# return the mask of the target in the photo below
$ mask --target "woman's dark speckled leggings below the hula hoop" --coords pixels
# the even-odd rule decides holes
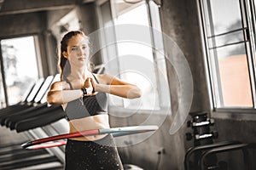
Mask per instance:
[[[123,170],[113,136],[96,141],[67,139],[66,170]]]

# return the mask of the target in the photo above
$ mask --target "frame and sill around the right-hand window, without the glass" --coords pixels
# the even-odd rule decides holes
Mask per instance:
[[[246,48],[246,54],[247,54],[247,64],[248,64],[248,71],[249,71],[249,77],[250,77],[250,85],[251,85],[251,92],[253,97],[253,107],[218,107],[216,96],[216,91],[214,90],[214,80],[216,80],[216,77],[218,77],[218,73],[214,70],[214,66],[212,65],[212,55],[210,54],[208,48],[208,40],[207,40],[207,19],[205,18],[206,14],[206,8],[204,8],[204,4],[202,2],[203,0],[197,1],[197,7],[198,7],[198,15],[199,15],[199,21],[201,26],[201,41],[202,41],[202,47],[203,47],[203,54],[205,59],[205,69],[207,73],[207,87],[208,87],[208,94],[210,96],[211,101],[211,109],[214,114],[212,116],[218,116],[222,118],[226,117],[232,117],[232,118],[242,118],[247,120],[256,120],[256,92],[255,92],[255,1],[248,1],[248,0],[238,0],[241,4],[241,22],[242,22],[242,28],[247,29],[247,31],[243,31],[244,41],[245,42],[245,48]],[[248,41],[246,37],[249,37]],[[216,59],[216,56],[214,56]],[[213,67],[213,68],[212,68]],[[215,79],[214,79],[215,77]],[[219,77],[218,77],[219,78]],[[215,87],[216,88],[216,87]],[[219,87],[218,87],[219,88]],[[219,91],[221,92],[221,91]],[[242,113],[242,114],[241,114]]]

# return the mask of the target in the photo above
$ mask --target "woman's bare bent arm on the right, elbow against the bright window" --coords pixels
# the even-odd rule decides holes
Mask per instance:
[[[117,95],[119,97],[134,99],[142,96],[142,91],[136,85],[121,81],[119,78],[109,76],[108,74],[97,75],[100,84],[93,82],[96,92],[105,92]]]

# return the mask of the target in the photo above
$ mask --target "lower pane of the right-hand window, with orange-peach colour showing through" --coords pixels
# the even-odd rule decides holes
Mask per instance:
[[[239,54],[238,51],[241,50]],[[218,67],[223,95],[220,106],[253,106],[247,55],[243,45],[233,45],[218,50]]]

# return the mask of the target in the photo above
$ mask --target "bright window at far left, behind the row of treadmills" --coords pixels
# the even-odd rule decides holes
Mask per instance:
[[[34,37],[1,41],[3,67],[0,78],[1,107],[20,102],[30,84],[38,79],[38,61],[34,41]]]

